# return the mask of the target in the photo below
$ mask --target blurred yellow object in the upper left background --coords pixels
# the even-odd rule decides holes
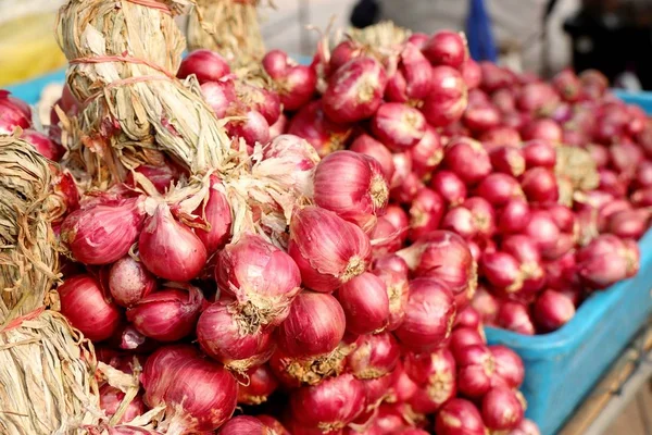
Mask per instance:
[[[66,60],[54,39],[57,13],[22,16],[0,24],[0,87],[62,67]]]

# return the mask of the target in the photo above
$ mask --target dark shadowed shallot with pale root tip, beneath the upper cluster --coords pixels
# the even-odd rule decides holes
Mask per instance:
[[[322,101],[313,101],[297,112],[290,122],[288,133],[310,142],[319,157],[341,150],[351,134],[347,125],[334,123],[324,115]]]

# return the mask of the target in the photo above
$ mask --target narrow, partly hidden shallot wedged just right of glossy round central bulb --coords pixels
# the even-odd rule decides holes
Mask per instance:
[[[398,256],[376,260],[372,270],[385,283],[389,298],[389,322],[387,331],[394,331],[403,322],[408,304],[408,264]]]

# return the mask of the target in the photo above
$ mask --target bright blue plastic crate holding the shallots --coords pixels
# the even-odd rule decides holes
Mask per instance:
[[[64,75],[64,71],[58,71],[8,89],[34,104],[46,85],[62,83]],[[652,113],[652,94],[616,95]],[[595,293],[561,330],[532,337],[487,328],[490,344],[509,346],[523,358],[526,414],[539,424],[543,435],[562,427],[652,312],[652,231],[639,241],[639,274]]]

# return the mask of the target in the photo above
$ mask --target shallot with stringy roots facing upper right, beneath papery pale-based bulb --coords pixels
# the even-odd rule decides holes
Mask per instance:
[[[209,357],[239,373],[265,363],[274,351],[272,331],[252,328],[228,299],[201,313],[197,340]]]

